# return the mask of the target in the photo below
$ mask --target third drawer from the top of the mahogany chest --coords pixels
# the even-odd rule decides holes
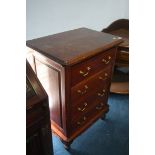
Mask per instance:
[[[97,105],[105,105],[107,103],[108,92],[103,92],[104,89],[100,89],[95,93],[91,94],[89,98],[84,99],[80,103],[72,106],[71,118],[72,121],[80,119],[80,117],[87,112],[94,109]]]

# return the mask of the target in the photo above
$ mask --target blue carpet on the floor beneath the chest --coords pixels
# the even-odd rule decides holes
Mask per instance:
[[[53,135],[54,155],[128,155],[129,96],[111,94],[106,120],[99,119],[77,137],[70,151]]]

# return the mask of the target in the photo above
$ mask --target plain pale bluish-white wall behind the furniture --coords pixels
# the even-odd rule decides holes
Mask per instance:
[[[79,27],[101,31],[129,18],[129,0],[27,0],[26,39]]]

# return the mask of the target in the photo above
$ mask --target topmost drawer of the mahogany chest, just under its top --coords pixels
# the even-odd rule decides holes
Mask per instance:
[[[74,65],[71,69],[72,86],[99,72],[103,67],[113,65],[115,55],[116,48],[112,48],[82,63]]]

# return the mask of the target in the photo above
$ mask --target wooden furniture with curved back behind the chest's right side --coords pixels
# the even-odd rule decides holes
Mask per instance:
[[[116,63],[110,92],[128,94],[129,93],[129,72],[123,73],[121,68],[129,70],[129,20],[119,19],[114,21],[102,32],[110,33],[122,37],[123,42],[118,45]]]

